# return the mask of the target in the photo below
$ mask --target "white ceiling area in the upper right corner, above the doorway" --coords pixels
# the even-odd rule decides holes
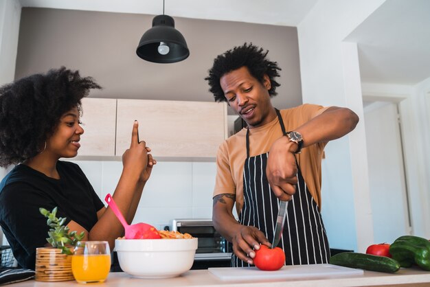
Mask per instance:
[[[387,0],[347,38],[362,82],[414,85],[430,77],[430,1]]]

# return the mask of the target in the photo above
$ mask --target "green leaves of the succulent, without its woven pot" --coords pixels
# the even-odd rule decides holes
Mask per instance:
[[[48,231],[49,238],[46,238],[47,242],[49,242],[52,246],[61,249],[61,253],[65,253],[68,255],[73,254],[70,248],[67,246],[78,246],[80,244],[80,240],[84,238],[84,231],[80,234],[76,234],[76,231],[71,231],[69,233],[69,227],[63,226],[67,218],[57,218],[57,207],[52,209],[52,212],[45,208],[39,208],[39,211],[43,216],[47,219],[47,225],[51,227]]]

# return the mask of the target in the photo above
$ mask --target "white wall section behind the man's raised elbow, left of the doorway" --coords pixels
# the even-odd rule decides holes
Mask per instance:
[[[363,119],[357,46],[343,39],[383,2],[318,1],[299,23],[303,102],[347,106]],[[326,147],[322,214],[332,248],[363,252],[373,242],[366,154],[363,121]]]

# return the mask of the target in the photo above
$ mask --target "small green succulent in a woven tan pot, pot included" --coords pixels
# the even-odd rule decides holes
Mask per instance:
[[[57,207],[52,212],[40,208],[39,211],[47,218],[50,227],[46,239],[52,247],[40,247],[36,249],[36,276],[37,281],[56,282],[73,280],[71,272],[71,255],[73,249],[79,246],[84,238],[84,231],[78,234],[64,226],[67,218],[57,218]]]

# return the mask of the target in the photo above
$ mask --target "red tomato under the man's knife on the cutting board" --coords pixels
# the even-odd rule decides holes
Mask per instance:
[[[270,249],[266,245],[260,245],[260,249],[256,250],[256,257],[254,257],[253,261],[260,270],[275,271],[284,266],[285,254],[279,247]]]

